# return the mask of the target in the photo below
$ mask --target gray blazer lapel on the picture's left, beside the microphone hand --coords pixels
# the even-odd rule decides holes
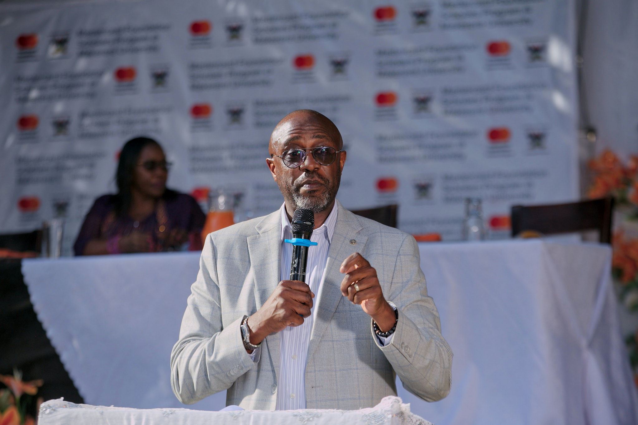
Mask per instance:
[[[259,234],[248,237],[248,255],[255,275],[255,303],[257,310],[271,296],[281,278],[281,213],[267,215],[256,229]],[[265,339],[267,351],[279,382],[279,333]],[[263,353],[262,353],[263,356]],[[263,360],[262,360],[263,361]]]

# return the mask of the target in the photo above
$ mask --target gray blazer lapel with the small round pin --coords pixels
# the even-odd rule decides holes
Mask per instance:
[[[316,301],[318,305],[315,308],[313,330],[310,335],[308,363],[311,361],[311,356],[313,356],[318,343],[328,328],[339,301],[344,298],[341,294],[343,274],[339,273],[341,263],[350,254],[362,252],[367,240],[367,236],[359,234],[362,227],[357,217],[343,208],[339,201],[337,201],[337,205],[339,208],[337,223],[334,227],[330,249],[328,250],[328,261],[326,262],[325,275],[319,291],[319,299]],[[352,243],[352,241],[355,243]]]

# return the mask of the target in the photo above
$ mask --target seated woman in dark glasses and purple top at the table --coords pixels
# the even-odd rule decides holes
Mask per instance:
[[[84,218],[76,256],[202,249],[205,216],[192,196],[167,189],[168,162],[159,143],[126,142],[117,164],[119,192],[96,199]]]

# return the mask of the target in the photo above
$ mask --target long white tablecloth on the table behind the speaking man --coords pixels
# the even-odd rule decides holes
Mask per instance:
[[[412,412],[436,424],[635,424],[609,247],[540,240],[420,245],[454,351],[452,391]],[[29,259],[24,280],[91,405],[183,407],[170,389],[198,255]],[[400,387],[400,384],[397,384]],[[218,410],[220,393],[193,408]]]

